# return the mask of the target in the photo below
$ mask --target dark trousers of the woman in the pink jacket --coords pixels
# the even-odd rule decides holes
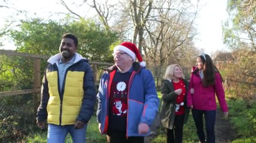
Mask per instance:
[[[207,143],[215,143],[215,133],[214,133],[214,125],[216,118],[216,110],[196,110],[192,109],[192,115],[196,125],[196,133],[199,138],[199,141],[204,143],[204,125],[203,125],[203,116],[205,118],[205,126],[207,133]]]

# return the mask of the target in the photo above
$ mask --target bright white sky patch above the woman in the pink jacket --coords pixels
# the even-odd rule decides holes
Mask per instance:
[[[201,0],[203,1],[203,0]],[[216,50],[228,50],[222,41],[222,22],[228,18],[227,0],[207,0],[196,19],[195,46],[204,49],[206,54]]]

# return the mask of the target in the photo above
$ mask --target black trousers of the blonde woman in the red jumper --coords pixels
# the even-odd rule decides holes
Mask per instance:
[[[175,115],[173,129],[167,130],[167,143],[182,143],[184,114]]]

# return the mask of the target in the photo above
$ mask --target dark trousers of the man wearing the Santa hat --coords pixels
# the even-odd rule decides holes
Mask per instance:
[[[108,130],[107,143],[144,143],[144,137],[126,137],[125,131]]]

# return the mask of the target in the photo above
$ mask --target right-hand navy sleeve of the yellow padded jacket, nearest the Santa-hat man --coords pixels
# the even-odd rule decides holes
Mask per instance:
[[[83,77],[83,101],[80,113],[76,120],[88,123],[94,112],[94,104],[96,99],[94,76],[91,67],[86,63],[85,75]]]

